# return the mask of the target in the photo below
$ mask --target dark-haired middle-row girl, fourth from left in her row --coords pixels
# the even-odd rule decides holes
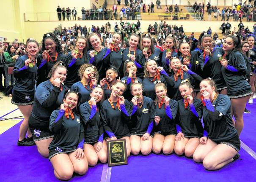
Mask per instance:
[[[142,80],[136,76],[137,67],[132,60],[127,59],[126,62],[124,62],[124,73],[125,77],[122,78],[121,81],[127,84],[127,89],[123,95],[128,101],[131,101],[133,96],[130,91],[130,86],[132,83],[142,83]]]

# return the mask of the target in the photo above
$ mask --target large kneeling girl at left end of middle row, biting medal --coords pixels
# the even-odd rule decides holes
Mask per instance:
[[[33,110],[28,123],[37,150],[44,157],[49,156],[48,147],[54,134],[49,130],[49,119],[52,111],[63,103],[64,92],[67,87],[62,83],[66,79],[66,67],[63,62],[53,65],[49,80],[36,88]]]

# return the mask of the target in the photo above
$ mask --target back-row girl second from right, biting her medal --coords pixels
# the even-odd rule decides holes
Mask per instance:
[[[211,35],[201,34],[201,46],[203,48],[203,54],[199,56],[199,64],[201,66],[202,78],[212,78],[217,86],[217,91],[220,94],[227,94],[227,86],[223,75],[221,73],[221,64],[219,58],[223,57],[224,51],[220,47],[212,48]],[[200,94],[200,93],[199,93]]]

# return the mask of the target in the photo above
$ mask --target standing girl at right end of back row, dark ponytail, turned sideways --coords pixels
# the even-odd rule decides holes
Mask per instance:
[[[240,135],[244,125],[245,105],[253,94],[246,80],[247,67],[241,53],[240,37],[236,34],[226,37],[223,50],[225,54],[220,61],[221,71],[228,87],[227,95],[231,98],[232,115],[236,119],[237,133]]]

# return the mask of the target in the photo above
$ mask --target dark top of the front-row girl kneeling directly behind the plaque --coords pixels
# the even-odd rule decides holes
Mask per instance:
[[[117,102],[113,102],[115,109],[110,105],[110,102],[105,100],[100,106],[100,115],[104,130],[108,134],[113,133],[117,138],[120,138],[126,134],[129,134],[128,121],[129,117],[125,115],[121,110],[116,108]],[[131,111],[129,102],[125,99],[125,107],[128,112]]]

